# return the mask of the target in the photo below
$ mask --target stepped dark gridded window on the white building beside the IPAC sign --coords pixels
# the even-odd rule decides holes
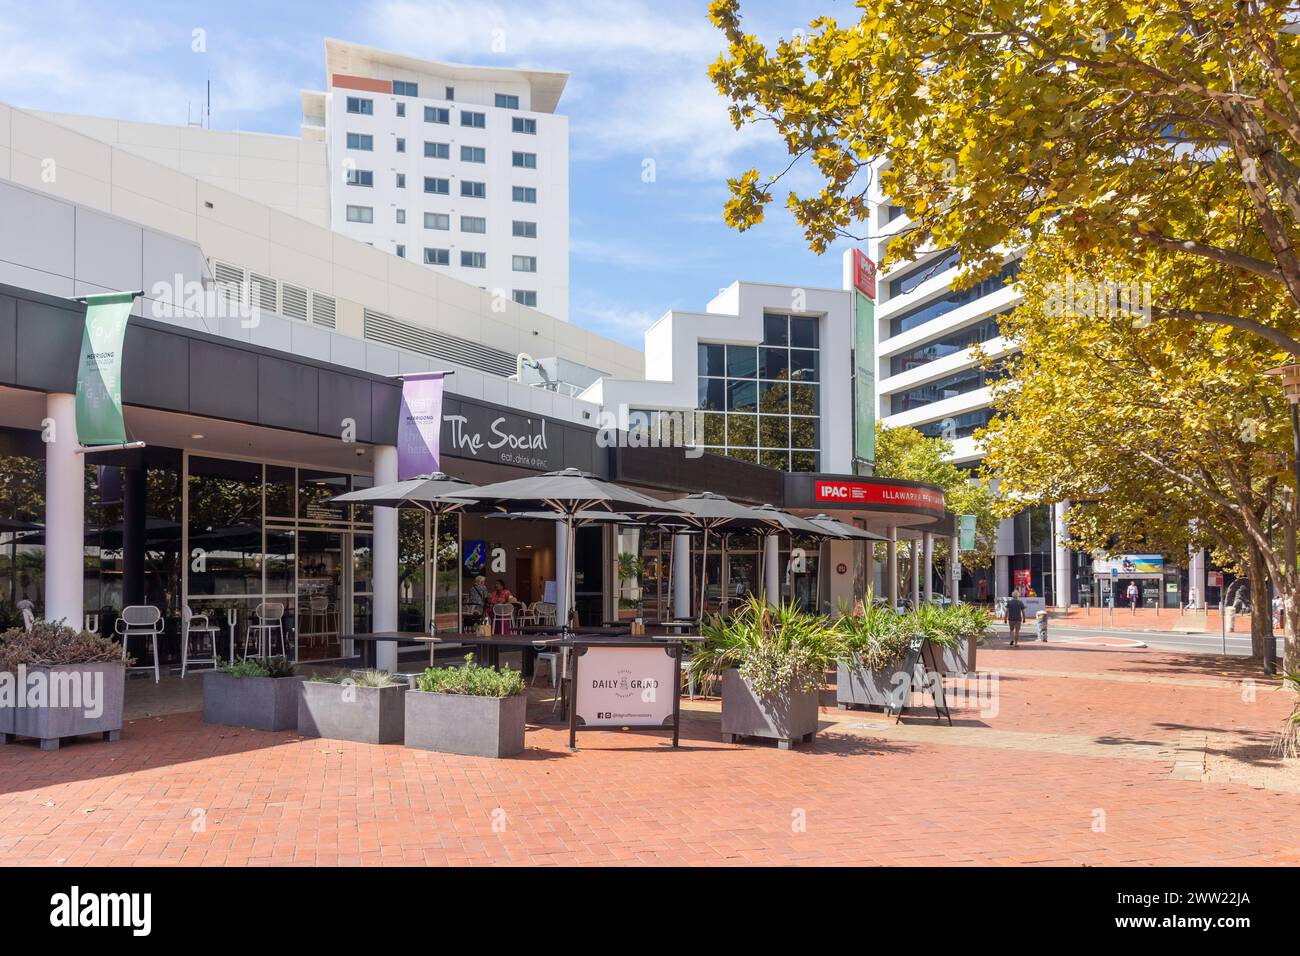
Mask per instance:
[[[766,313],[758,346],[699,343],[706,450],[783,471],[820,467],[818,320]]]

